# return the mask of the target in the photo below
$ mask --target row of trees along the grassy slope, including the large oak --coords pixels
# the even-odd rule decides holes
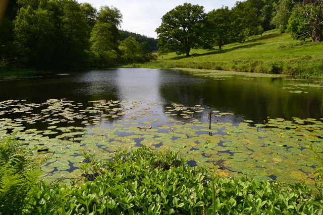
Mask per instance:
[[[202,6],[184,3],[161,18],[156,29],[158,51],[190,56],[196,48],[221,50],[275,28],[290,32],[294,39],[319,42],[323,39],[322,5],[323,0],[247,0],[206,14]]]

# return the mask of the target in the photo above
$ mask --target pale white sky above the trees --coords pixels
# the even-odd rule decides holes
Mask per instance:
[[[161,17],[179,5],[191,3],[204,7],[205,13],[228,6],[232,8],[237,0],[78,0],[90,3],[96,9],[113,6],[120,10],[123,18],[121,28],[130,32],[157,38],[154,32],[160,26]]]

